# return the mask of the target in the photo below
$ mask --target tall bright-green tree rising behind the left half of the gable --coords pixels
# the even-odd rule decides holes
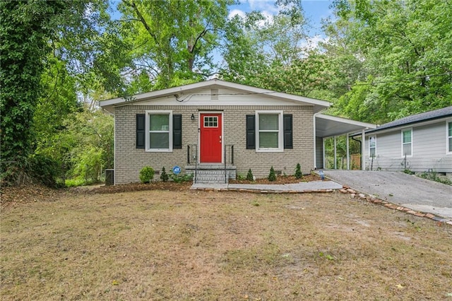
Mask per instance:
[[[167,88],[199,81],[213,65],[211,52],[218,46],[233,0],[124,0],[121,35],[132,45],[135,85],[142,90]],[[138,85],[137,85],[138,84]],[[136,92],[136,91],[133,91]]]

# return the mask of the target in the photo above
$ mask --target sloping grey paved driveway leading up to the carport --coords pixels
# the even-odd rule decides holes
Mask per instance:
[[[403,172],[324,170],[326,177],[415,211],[452,219],[452,186]]]

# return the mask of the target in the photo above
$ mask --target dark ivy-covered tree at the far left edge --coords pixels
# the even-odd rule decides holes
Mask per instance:
[[[30,153],[30,127],[40,96],[46,37],[64,1],[0,1],[1,174],[14,182]]]

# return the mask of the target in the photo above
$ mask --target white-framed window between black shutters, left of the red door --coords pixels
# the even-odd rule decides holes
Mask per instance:
[[[146,151],[172,151],[172,111],[146,111]]]

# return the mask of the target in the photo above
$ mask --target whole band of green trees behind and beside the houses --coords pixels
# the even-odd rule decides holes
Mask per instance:
[[[112,167],[112,117],[95,100],[213,74],[329,100],[331,114],[363,122],[452,105],[448,1],[335,0],[319,45],[301,0],[276,0],[271,18],[229,16],[237,2],[0,1],[2,182],[31,165],[97,179]]]

